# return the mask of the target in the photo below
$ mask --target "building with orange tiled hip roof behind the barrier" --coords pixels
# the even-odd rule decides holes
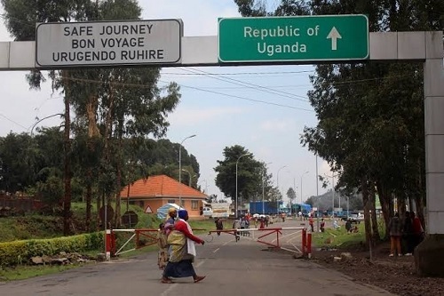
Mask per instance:
[[[199,190],[179,183],[166,175],[149,176],[125,186],[120,192],[122,203],[139,205],[145,212],[156,213],[163,204],[178,204],[188,211],[190,218],[202,218],[203,203],[209,196]]]

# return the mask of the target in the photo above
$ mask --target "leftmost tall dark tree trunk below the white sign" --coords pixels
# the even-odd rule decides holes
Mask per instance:
[[[71,140],[69,139],[71,121],[69,117],[69,81],[67,76],[70,74],[69,71],[63,71],[64,78],[64,86],[65,86],[65,201],[63,204],[63,234],[68,236],[71,225]]]

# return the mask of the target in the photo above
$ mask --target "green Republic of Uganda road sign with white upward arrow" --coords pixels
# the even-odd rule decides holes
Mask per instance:
[[[366,60],[369,20],[361,14],[218,20],[218,60]]]

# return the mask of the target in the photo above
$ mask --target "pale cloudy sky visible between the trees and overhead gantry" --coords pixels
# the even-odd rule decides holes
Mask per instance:
[[[217,36],[218,17],[240,16],[233,0],[140,0],[139,4],[145,20],[183,20],[185,36]],[[0,41],[11,40],[2,21]],[[26,74],[0,72],[0,136],[31,132],[37,118],[63,112],[62,97],[52,93],[51,84],[44,84],[41,91],[29,90]],[[177,82],[182,94],[178,108],[169,116],[166,138],[181,142],[196,134],[184,147],[196,156],[201,168],[199,184],[209,195],[223,197],[214,184],[214,167],[223,159],[223,149],[241,145],[257,160],[272,163],[268,170],[284,195],[289,187],[296,187],[299,201],[302,179],[305,200],[316,194],[315,156],[300,145],[304,126],[317,123],[306,97],[311,74],[313,66],[306,65],[164,68],[161,84]],[[61,121],[55,116],[36,126]],[[328,164],[321,159],[318,163],[319,174],[329,173]],[[325,191],[319,184],[319,193]]]

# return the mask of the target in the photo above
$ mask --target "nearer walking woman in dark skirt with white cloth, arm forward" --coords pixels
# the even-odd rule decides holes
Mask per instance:
[[[174,225],[174,229],[168,236],[168,244],[170,244],[170,259],[163,270],[162,283],[171,284],[171,277],[188,277],[192,276],[194,283],[198,283],[205,276],[197,276],[194,271],[193,262],[196,256],[194,243],[205,244],[205,242],[194,236],[191,226],[188,224],[188,212],[186,210],[178,211],[178,220]]]

